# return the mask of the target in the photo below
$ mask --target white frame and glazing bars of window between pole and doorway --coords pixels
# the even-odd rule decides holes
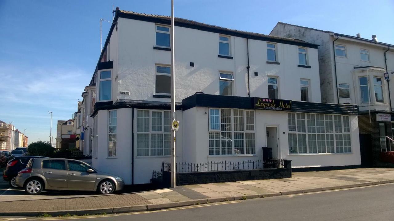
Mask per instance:
[[[231,131],[222,131],[221,130],[221,109],[225,110],[231,110]],[[210,110],[219,110],[219,130],[216,129],[210,129]],[[243,111],[243,131],[235,131],[234,130],[234,110],[242,110]],[[246,127],[246,112],[250,111],[253,112],[253,129],[254,130],[247,130]],[[256,111],[255,110],[245,110],[245,109],[230,109],[230,108],[208,108],[208,137],[210,132],[215,132],[219,133],[219,149],[220,153],[222,153],[222,146],[221,146],[221,133],[231,133],[231,151],[232,154],[220,154],[220,155],[210,155],[209,154],[209,139],[207,142],[207,148],[208,148],[208,157],[231,157],[231,156],[256,156],[257,151],[256,151]],[[244,153],[245,154],[235,154],[234,151],[234,133],[243,133],[243,148],[244,148]],[[246,134],[247,133],[254,133],[255,134],[255,154],[246,154]]]

